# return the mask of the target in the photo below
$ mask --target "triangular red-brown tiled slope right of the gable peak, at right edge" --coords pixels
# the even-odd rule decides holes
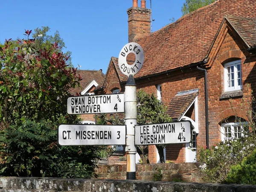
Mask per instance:
[[[249,48],[256,46],[256,18],[234,15],[226,15],[225,18]]]

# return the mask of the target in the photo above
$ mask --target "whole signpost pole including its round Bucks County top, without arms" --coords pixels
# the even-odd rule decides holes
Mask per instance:
[[[127,63],[127,55],[135,55],[134,64]],[[131,42],[126,44],[120,51],[118,66],[120,71],[128,76],[125,85],[125,125],[126,125],[126,146],[127,169],[126,179],[136,179],[136,147],[135,147],[135,125],[137,125],[137,96],[134,75],[139,72],[143,65],[144,52],[139,44]]]

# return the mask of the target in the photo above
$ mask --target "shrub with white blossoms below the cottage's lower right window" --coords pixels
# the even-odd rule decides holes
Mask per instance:
[[[244,137],[237,140],[221,141],[210,149],[198,149],[198,161],[204,162],[201,166],[207,174],[207,182],[223,183],[231,166],[241,163],[244,157],[255,149],[256,136],[252,132],[244,132]]]

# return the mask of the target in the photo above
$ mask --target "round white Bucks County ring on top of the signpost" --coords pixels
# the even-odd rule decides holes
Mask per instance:
[[[134,53],[135,62],[132,65],[129,65],[126,61],[127,55],[129,53]],[[139,72],[140,68],[143,65],[144,61],[144,52],[142,47],[139,44],[131,42],[126,44],[120,51],[118,57],[118,66],[123,74],[126,76],[135,75]]]

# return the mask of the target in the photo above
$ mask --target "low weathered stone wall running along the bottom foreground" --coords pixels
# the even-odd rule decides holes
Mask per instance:
[[[1,177],[0,192],[255,192],[255,185]]]

